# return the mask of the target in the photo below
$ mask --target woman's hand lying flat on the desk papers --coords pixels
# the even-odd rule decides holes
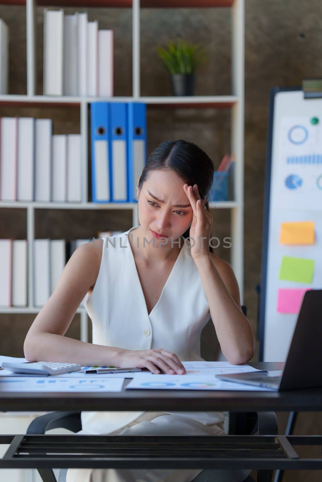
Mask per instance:
[[[177,355],[163,348],[122,350],[117,357],[117,366],[120,368],[148,368],[154,374],[162,372],[169,375],[185,374],[185,368]]]

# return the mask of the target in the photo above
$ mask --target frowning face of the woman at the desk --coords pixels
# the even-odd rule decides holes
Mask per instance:
[[[152,171],[139,192],[140,226],[151,239],[152,231],[178,239],[191,225],[192,207],[183,186],[172,171]],[[157,199],[155,199],[157,198]],[[158,244],[158,239],[155,239]]]

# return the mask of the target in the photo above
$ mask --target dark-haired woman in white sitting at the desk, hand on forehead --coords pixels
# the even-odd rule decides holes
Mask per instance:
[[[184,374],[182,361],[202,360],[200,334],[210,316],[228,362],[252,358],[252,328],[234,272],[210,252],[206,203],[213,172],[208,155],[191,142],[167,141],[154,149],[138,181],[140,226],[73,253],[29,329],[28,360]],[[64,337],[86,293],[93,344]],[[79,433],[224,435],[223,420],[222,412],[82,412]],[[67,481],[190,482],[201,472],[70,469]],[[243,481],[249,472],[217,470],[215,480]]]

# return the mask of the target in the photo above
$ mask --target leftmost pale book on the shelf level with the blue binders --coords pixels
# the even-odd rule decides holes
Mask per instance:
[[[16,117],[1,118],[1,201],[17,200],[17,125]]]

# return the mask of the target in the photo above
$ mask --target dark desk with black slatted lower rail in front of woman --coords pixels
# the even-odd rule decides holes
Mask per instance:
[[[280,370],[283,366],[283,363],[250,364],[263,370]],[[122,392],[117,393],[0,392],[0,411],[322,410],[322,388],[283,392],[126,390],[129,381],[125,380]],[[11,443],[6,455],[0,459],[0,468],[322,469],[321,458],[302,459],[293,447],[304,444],[322,445],[322,436],[285,437],[266,434],[134,437],[22,434],[0,435],[0,443]],[[77,450],[79,454],[75,455]]]

